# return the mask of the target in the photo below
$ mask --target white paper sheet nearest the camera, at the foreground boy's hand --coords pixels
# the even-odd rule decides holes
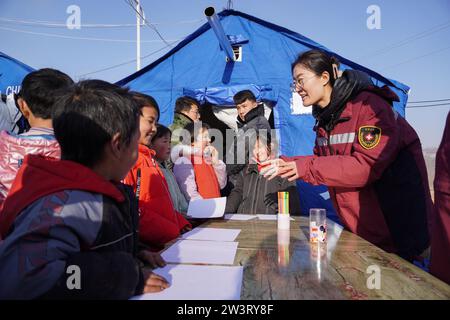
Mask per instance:
[[[154,272],[167,279],[170,287],[158,293],[133,297],[132,300],[240,300],[241,266],[175,264]]]

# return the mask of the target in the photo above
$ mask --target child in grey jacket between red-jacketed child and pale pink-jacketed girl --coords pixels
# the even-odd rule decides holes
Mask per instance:
[[[175,210],[186,213],[189,204],[181,192],[172,170],[166,167],[166,163],[170,158],[172,131],[162,124],[157,124],[156,128],[156,135],[152,138],[150,147],[155,151],[155,159],[158,161],[159,168],[166,178]]]

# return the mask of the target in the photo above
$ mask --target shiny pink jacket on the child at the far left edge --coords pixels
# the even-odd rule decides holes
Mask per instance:
[[[42,130],[44,131],[44,130]],[[5,200],[17,171],[27,154],[41,154],[59,158],[59,144],[51,129],[48,134],[16,135],[7,131],[0,132],[0,206]]]

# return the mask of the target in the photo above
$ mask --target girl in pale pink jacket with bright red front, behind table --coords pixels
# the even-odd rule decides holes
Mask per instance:
[[[173,167],[181,191],[188,200],[220,197],[220,190],[227,184],[226,166],[210,144],[209,126],[189,123],[184,129],[189,137],[184,137],[183,143],[192,151],[178,158]]]

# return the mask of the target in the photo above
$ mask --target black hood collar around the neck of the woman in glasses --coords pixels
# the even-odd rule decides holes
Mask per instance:
[[[317,126],[329,132],[339,122],[349,120],[348,117],[341,117],[347,102],[372,85],[372,80],[366,73],[359,70],[345,70],[334,83],[328,106],[325,108],[313,106],[313,116],[317,120]]]

